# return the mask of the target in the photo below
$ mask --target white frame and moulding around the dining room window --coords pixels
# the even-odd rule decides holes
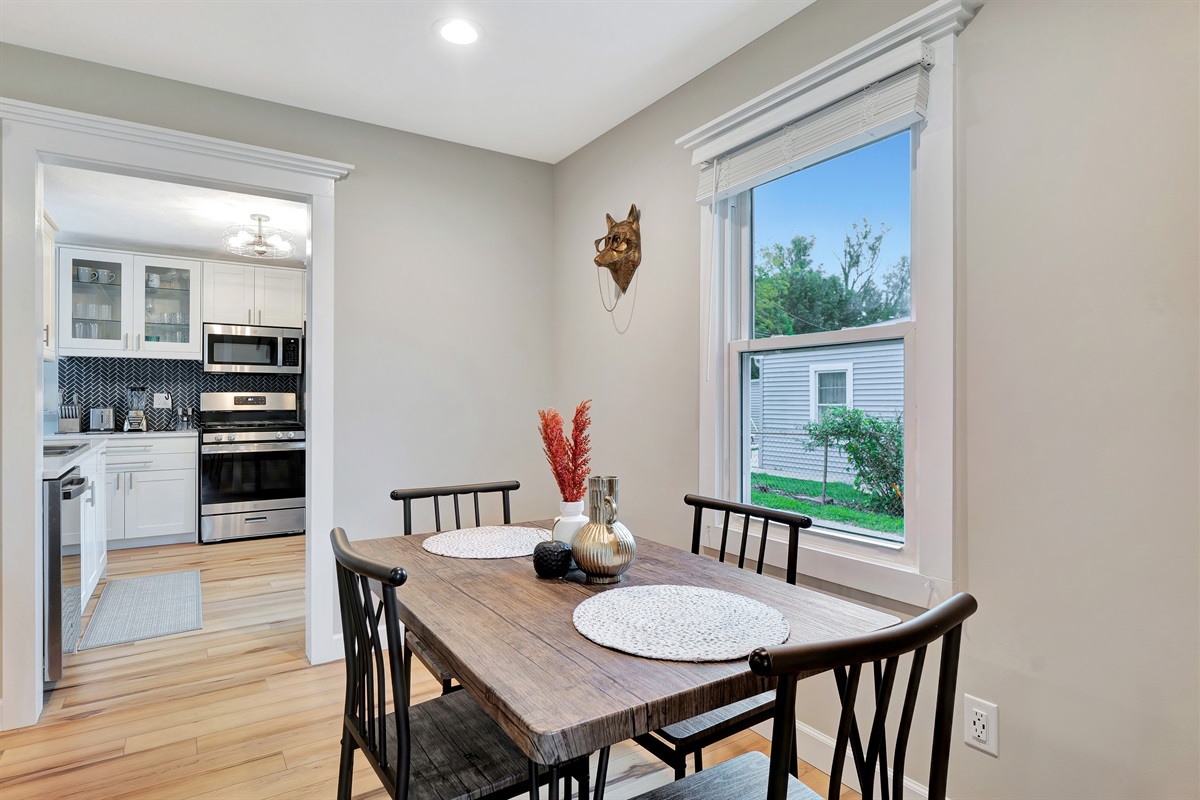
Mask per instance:
[[[773,109],[784,104],[799,108],[805,102],[811,106],[817,102],[814,98],[829,102],[830,95],[862,89],[863,76],[890,68],[896,53],[914,43],[932,62],[926,118],[913,127],[912,136],[912,320],[870,330],[870,339],[902,338],[905,344],[906,540],[902,546],[887,546],[835,531],[806,531],[799,559],[803,575],[922,608],[937,604],[958,589],[954,82],[956,35],[979,5],[978,0],[941,0],[679,140],[695,151],[694,160],[704,161],[739,140],[761,136],[762,120],[778,122],[770,116]],[[746,196],[700,210],[701,317],[707,324],[701,341],[698,485],[701,493],[726,498],[737,497],[740,483],[743,444],[740,431],[732,425],[743,402],[739,355],[798,344],[794,337],[740,338],[749,331],[749,306],[743,302],[748,287],[739,283],[740,276],[732,275],[736,270],[731,265],[750,263]],[[803,344],[863,338],[862,330],[829,331],[806,335]],[[715,541],[714,533],[719,536],[719,530],[706,530],[706,543]],[[775,537],[773,533],[770,539]],[[769,541],[768,561],[775,561],[775,554],[785,549],[781,541]]]

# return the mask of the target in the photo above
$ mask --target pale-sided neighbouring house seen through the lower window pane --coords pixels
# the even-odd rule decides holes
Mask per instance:
[[[808,450],[804,426],[823,409],[841,405],[875,416],[904,410],[904,341],[838,344],[751,356],[751,452],[754,471],[821,480],[822,449]],[[840,450],[829,451],[829,480],[852,483]]]

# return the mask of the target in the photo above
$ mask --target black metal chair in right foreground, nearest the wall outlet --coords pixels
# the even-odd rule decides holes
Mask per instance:
[[[821,800],[821,795],[796,778],[796,681],[798,678],[834,670],[841,699],[838,740],[834,745],[833,766],[829,770],[828,800],[841,796],[841,776],[846,764],[846,748],[853,757],[863,800],[875,798],[876,784],[881,800],[904,798],[904,765],[912,732],[913,710],[920,686],[926,648],[942,642],[942,658],[937,679],[937,702],[934,711],[932,757],[929,768],[929,800],[946,800],[946,775],[950,763],[950,734],[954,721],[954,692],[959,673],[959,646],[962,622],[978,603],[966,593],[954,595],[920,616],[882,631],[833,642],[812,644],[781,644],[760,648],[750,654],[750,669],[763,678],[779,678],[775,722],[772,733],[770,759],[751,752],[716,766],[689,775],[682,781],[638,795],[636,800],[727,800],[728,798],[762,798],[767,800]],[[887,762],[884,723],[892,704],[900,656],[912,654],[904,704],[900,709],[896,741],[892,764]],[[854,711],[863,667],[871,664],[875,678],[870,727],[866,746],[859,735]],[[889,786],[890,771],[890,786]]]

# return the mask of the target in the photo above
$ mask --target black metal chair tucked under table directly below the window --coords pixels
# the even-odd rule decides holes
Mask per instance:
[[[725,561],[726,555],[730,555],[731,558],[736,557],[738,569],[745,569],[746,557],[750,555],[754,558],[752,564],[758,575],[762,575],[762,569],[766,563],[767,531],[770,523],[786,525],[787,566],[785,577],[788,583],[793,585],[796,584],[796,560],[797,553],[799,552],[800,528],[810,527],[812,524],[812,519],[792,511],[763,509],[760,506],[746,505],[744,503],[732,503],[730,500],[706,498],[698,494],[689,494],[683,499],[683,501],[696,510],[691,528],[692,553],[700,553],[700,534],[703,525],[704,512],[721,512],[724,513],[724,523],[721,525],[721,547],[719,559]],[[742,517],[740,542],[732,542],[733,547],[731,548],[730,518],[738,516]],[[748,553],[748,549],[750,548],[751,518],[762,521],[762,528],[758,531],[758,552],[756,555]],[[733,533],[737,535],[736,530]],[[775,692],[763,692],[762,694],[757,694],[738,703],[732,703],[716,709],[715,711],[701,714],[700,716],[670,724],[653,733],[636,736],[634,741],[644,747],[653,756],[665,762],[668,766],[673,768],[676,780],[679,780],[686,774],[688,756],[692,756],[695,758],[696,771],[701,771],[704,768],[702,757],[702,750],[704,747],[708,747],[709,745],[722,739],[727,739],[736,733],[740,733],[758,724],[760,722],[766,722],[774,714],[774,708]]]

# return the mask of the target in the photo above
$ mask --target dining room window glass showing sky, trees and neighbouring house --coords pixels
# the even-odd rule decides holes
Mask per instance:
[[[752,325],[732,345],[756,367],[742,371],[746,405],[731,408],[745,439],[739,499],[892,543],[904,541],[894,335],[910,319],[911,146],[904,131],[733,199],[750,206]],[[832,331],[845,343],[814,347]]]

